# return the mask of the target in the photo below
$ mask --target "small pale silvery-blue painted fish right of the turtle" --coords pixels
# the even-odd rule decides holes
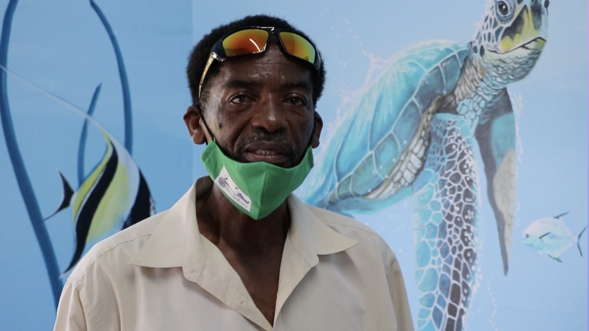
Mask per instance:
[[[548,255],[558,262],[562,262],[560,255],[569,247],[573,246],[573,243],[576,243],[579,253],[583,256],[579,239],[587,229],[587,226],[581,230],[578,236],[573,235],[571,230],[562,222],[562,216],[567,214],[562,213],[554,218],[541,218],[532,222],[522,235],[521,240],[524,242],[524,245]]]

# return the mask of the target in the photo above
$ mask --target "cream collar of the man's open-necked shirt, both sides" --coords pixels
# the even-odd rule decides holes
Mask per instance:
[[[182,267],[188,280],[197,281],[206,259],[206,249],[196,221],[196,198],[213,186],[208,176],[196,183],[161,215],[160,224],[155,228],[143,248],[129,264],[148,268]],[[299,198],[287,198],[290,211],[289,239],[294,248],[309,263],[319,262],[317,255],[342,252],[358,243],[329,228],[317,218],[312,208]]]

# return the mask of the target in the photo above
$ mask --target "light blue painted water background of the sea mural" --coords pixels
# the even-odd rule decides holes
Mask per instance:
[[[0,12],[8,1],[0,0]],[[100,1],[123,52],[133,105],[133,156],[143,171],[157,211],[169,208],[205,174],[201,146],[193,146],[182,115],[190,105],[184,77],[194,42],[211,28],[246,14],[284,16],[306,31],[323,53],[328,80],[317,111],[336,122],[343,102],[369,81],[371,68],[407,46],[432,39],[468,42],[485,0],[461,1]],[[571,232],[587,225],[587,2],[552,1],[548,43],[530,76],[508,86],[520,99],[517,214],[507,277],[502,274],[497,230],[486,196],[482,201],[481,275],[467,325],[470,330],[587,330],[585,255],[575,247],[557,263],[522,245],[534,220],[562,212]],[[123,101],[108,35],[88,1],[22,0],[12,26],[12,71],[86,109],[102,83],[95,118],[123,138]],[[378,70],[377,70],[378,72]],[[14,128],[42,212],[61,199],[55,169],[76,182],[83,119],[64,106],[8,78]],[[3,139],[2,139],[3,140]],[[325,140],[323,140],[325,141]],[[321,147],[316,150],[320,152]],[[104,152],[91,128],[86,165]],[[485,188],[484,178],[481,187]],[[485,190],[482,190],[485,194]],[[411,199],[358,219],[377,230],[397,254],[412,312]],[[39,246],[29,222],[6,145],[0,143],[0,330],[51,329],[55,309]],[[47,221],[64,269],[73,250],[71,210]]]

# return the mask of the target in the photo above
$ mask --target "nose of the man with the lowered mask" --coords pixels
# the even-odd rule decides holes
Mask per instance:
[[[277,132],[286,129],[287,121],[282,102],[273,95],[267,95],[257,102],[257,109],[252,119],[254,128],[267,132]]]

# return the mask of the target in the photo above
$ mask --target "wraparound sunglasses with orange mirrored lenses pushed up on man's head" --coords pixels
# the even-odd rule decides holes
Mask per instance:
[[[276,35],[279,40],[279,46],[284,54],[289,54],[295,58],[302,59],[311,63],[315,69],[321,68],[321,59],[319,52],[309,39],[296,32],[280,28],[265,26],[251,26],[231,32],[219,39],[211,48],[211,54],[207,64],[204,66],[203,75],[200,77],[198,85],[198,99],[203,88],[204,78],[209,71],[213,60],[220,62],[225,61],[233,56],[257,54],[266,51],[266,46],[271,35]]]

